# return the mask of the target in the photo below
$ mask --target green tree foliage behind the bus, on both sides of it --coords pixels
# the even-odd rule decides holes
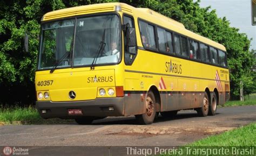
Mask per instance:
[[[135,7],[150,8],[183,23],[186,29],[226,46],[230,67],[231,93],[239,94],[240,80],[250,92],[255,81],[250,40],[227,19],[218,18],[210,7],[200,8],[192,0],[4,0],[0,1],[0,87],[5,91],[0,103],[31,104],[35,101],[34,75],[37,64],[38,36],[42,16],[49,11],[105,2],[123,2]],[[24,51],[23,38],[30,32],[29,52]],[[255,82],[254,82],[255,83]],[[248,92],[248,91],[247,91]]]

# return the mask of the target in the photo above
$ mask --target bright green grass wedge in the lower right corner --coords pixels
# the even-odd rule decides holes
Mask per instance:
[[[210,137],[207,137],[205,139],[195,141],[194,143],[190,143],[184,146],[181,146],[177,148],[177,152],[172,152],[171,154],[163,154],[164,155],[206,155],[206,154],[200,154],[200,150],[206,150],[211,149],[218,150],[222,148],[227,148],[230,150],[229,152],[233,151],[233,149],[253,149],[254,153],[256,152],[256,123],[242,126],[239,128],[236,128],[231,131],[226,131],[221,134],[217,135],[211,135]],[[254,148],[252,148],[254,147]],[[188,151],[196,151],[196,153],[190,153],[187,154]],[[181,153],[178,153],[178,151],[181,151]],[[237,151],[238,152],[238,151]],[[241,151],[240,151],[241,152]],[[207,154],[207,155],[216,155],[216,154]],[[217,155],[222,155],[221,153]],[[231,153],[224,154],[224,155],[233,155]],[[235,155],[244,155],[244,154],[235,154]],[[250,154],[249,154],[250,155]]]

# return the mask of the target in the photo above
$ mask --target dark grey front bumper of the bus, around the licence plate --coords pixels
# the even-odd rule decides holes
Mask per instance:
[[[109,107],[113,107],[114,109],[110,111]],[[63,102],[36,101],[36,108],[40,116],[44,119],[72,119],[83,116],[124,116],[124,98],[97,98],[95,100]],[[69,115],[69,109],[81,109],[83,115]],[[42,113],[43,110],[46,110],[46,113]]]

